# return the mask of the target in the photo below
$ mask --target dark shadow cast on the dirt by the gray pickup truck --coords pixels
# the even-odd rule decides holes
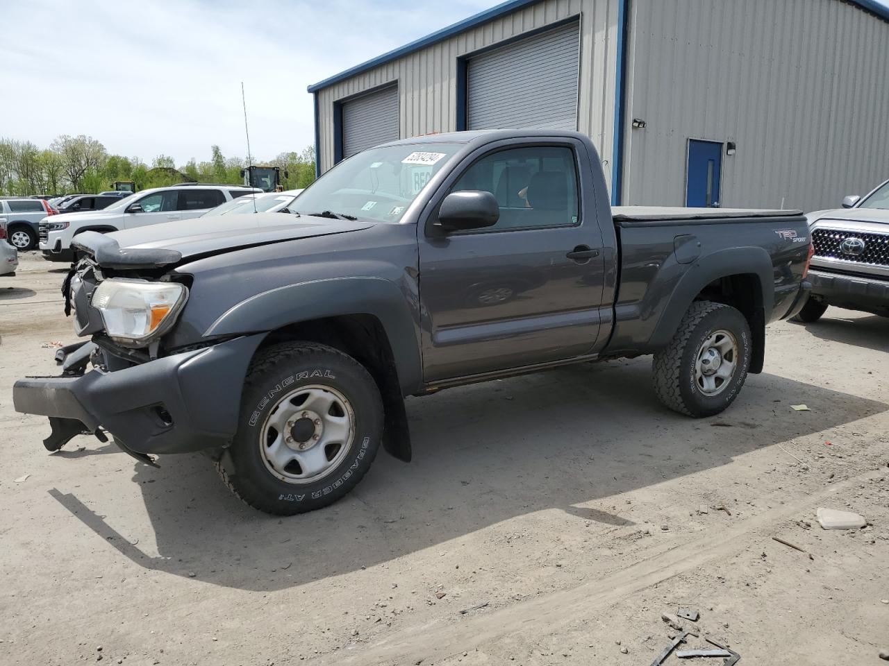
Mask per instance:
[[[587,364],[409,400],[413,462],[380,453],[340,503],[292,518],[241,503],[203,456],[162,457],[159,470],[136,464],[133,480],[158,556],[117,534],[76,496],[51,494],[141,567],[271,591],[372,567],[554,507],[631,525],[583,504],[889,409],[764,374],[749,377],[725,414],[693,420],[657,403],[649,365],[645,359]],[[812,411],[794,412],[789,405],[797,402]]]

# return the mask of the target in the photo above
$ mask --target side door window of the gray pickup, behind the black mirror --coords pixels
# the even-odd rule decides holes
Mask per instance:
[[[577,163],[569,147],[508,148],[485,155],[451,191],[466,190],[490,192],[500,207],[497,224],[481,233],[572,226],[580,219]]]

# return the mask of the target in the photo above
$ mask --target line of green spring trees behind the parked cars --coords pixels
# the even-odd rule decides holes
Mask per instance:
[[[108,155],[100,141],[84,135],[62,135],[48,148],[37,147],[31,141],[0,138],[0,195],[94,194],[111,189],[116,180],[132,180],[139,190],[183,180],[232,185],[244,182],[244,158],[226,157],[219,146],[212,146],[210,153],[209,161],[192,158],[176,167],[169,155],[157,155],[150,164],[139,157]],[[299,153],[281,153],[270,162],[254,163],[286,169],[284,189],[305,187],[315,179],[315,148],[311,146]]]

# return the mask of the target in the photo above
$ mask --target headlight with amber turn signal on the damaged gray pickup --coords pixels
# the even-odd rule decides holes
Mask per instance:
[[[176,321],[188,289],[178,282],[112,278],[92,292],[92,306],[116,342],[147,345]]]

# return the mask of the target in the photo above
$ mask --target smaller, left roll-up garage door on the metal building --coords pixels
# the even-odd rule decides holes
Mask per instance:
[[[398,86],[343,102],[342,134],[343,157],[398,139]]]

